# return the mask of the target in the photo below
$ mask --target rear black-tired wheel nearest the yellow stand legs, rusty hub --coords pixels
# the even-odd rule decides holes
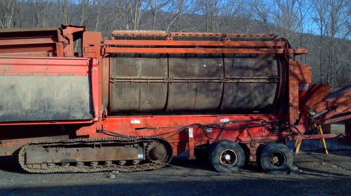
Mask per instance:
[[[286,174],[292,167],[292,161],[292,152],[282,143],[265,143],[257,153],[257,165],[266,173]]]

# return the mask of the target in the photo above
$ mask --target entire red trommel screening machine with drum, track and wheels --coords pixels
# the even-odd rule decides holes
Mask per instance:
[[[336,137],[312,133],[349,118],[350,87],[311,84],[302,53],[267,34],[1,29],[0,156],[34,173],[133,172],[188,150],[218,172],[286,173],[286,141]]]

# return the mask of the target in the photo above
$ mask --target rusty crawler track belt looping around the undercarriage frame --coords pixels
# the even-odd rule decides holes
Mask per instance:
[[[163,162],[158,162],[158,163],[142,163],[142,164],[136,164],[136,165],[117,165],[117,164],[112,164],[112,165],[97,165],[97,166],[88,166],[88,165],[83,165],[83,166],[76,166],[76,163],[70,163],[74,165],[70,166],[61,166],[61,165],[55,165],[54,167],[46,167],[46,168],[29,168],[25,164],[25,159],[24,159],[24,154],[25,151],[33,146],[41,146],[41,147],[55,147],[57,145],[74,145],[74,144],[103,144],[103,143],[117,143],[117,144],[135,144],[135,143],[151,143],[151,142],[159,142],[165,145],[167,149],[167,160],[164,160]],[[45,141],[33,141],[30,143],[27,143],[24,145],[19,152],[19,162],[20,166],[25,170],[30,173],[42,173],[42,174],[49,174],[49,173],[75,173],[75,172],[81,172],[81,173],[90,173],[90,172],[104,172],[104,171],[119,171],[119,172],[137,172],[137,171],[144,171],[144,170],[153,170],[153,169],[158,169],[166,164],[168,164],[173,156],[173,149],[170,143],[168,143],[167,140],[161,138],[161,137],[155,137],[155,136],[142,136],[142,137],[130,137],[130,138],[99,138],[99,139],[86,139],[86,138],[78,138],[78,139],[57,139],[57,140],[45,140]],[[99,161],[103,162],[103,161]],[[142,161],[140,161],[142,162]],[[37,164],[41,165],[41,164]]]

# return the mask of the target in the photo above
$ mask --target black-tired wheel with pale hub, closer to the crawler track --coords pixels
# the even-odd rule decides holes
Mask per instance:
[[[211,146],[209,161],[220,173],[234,173],[244,165],[245,153],[238,143],[222,140]]]

